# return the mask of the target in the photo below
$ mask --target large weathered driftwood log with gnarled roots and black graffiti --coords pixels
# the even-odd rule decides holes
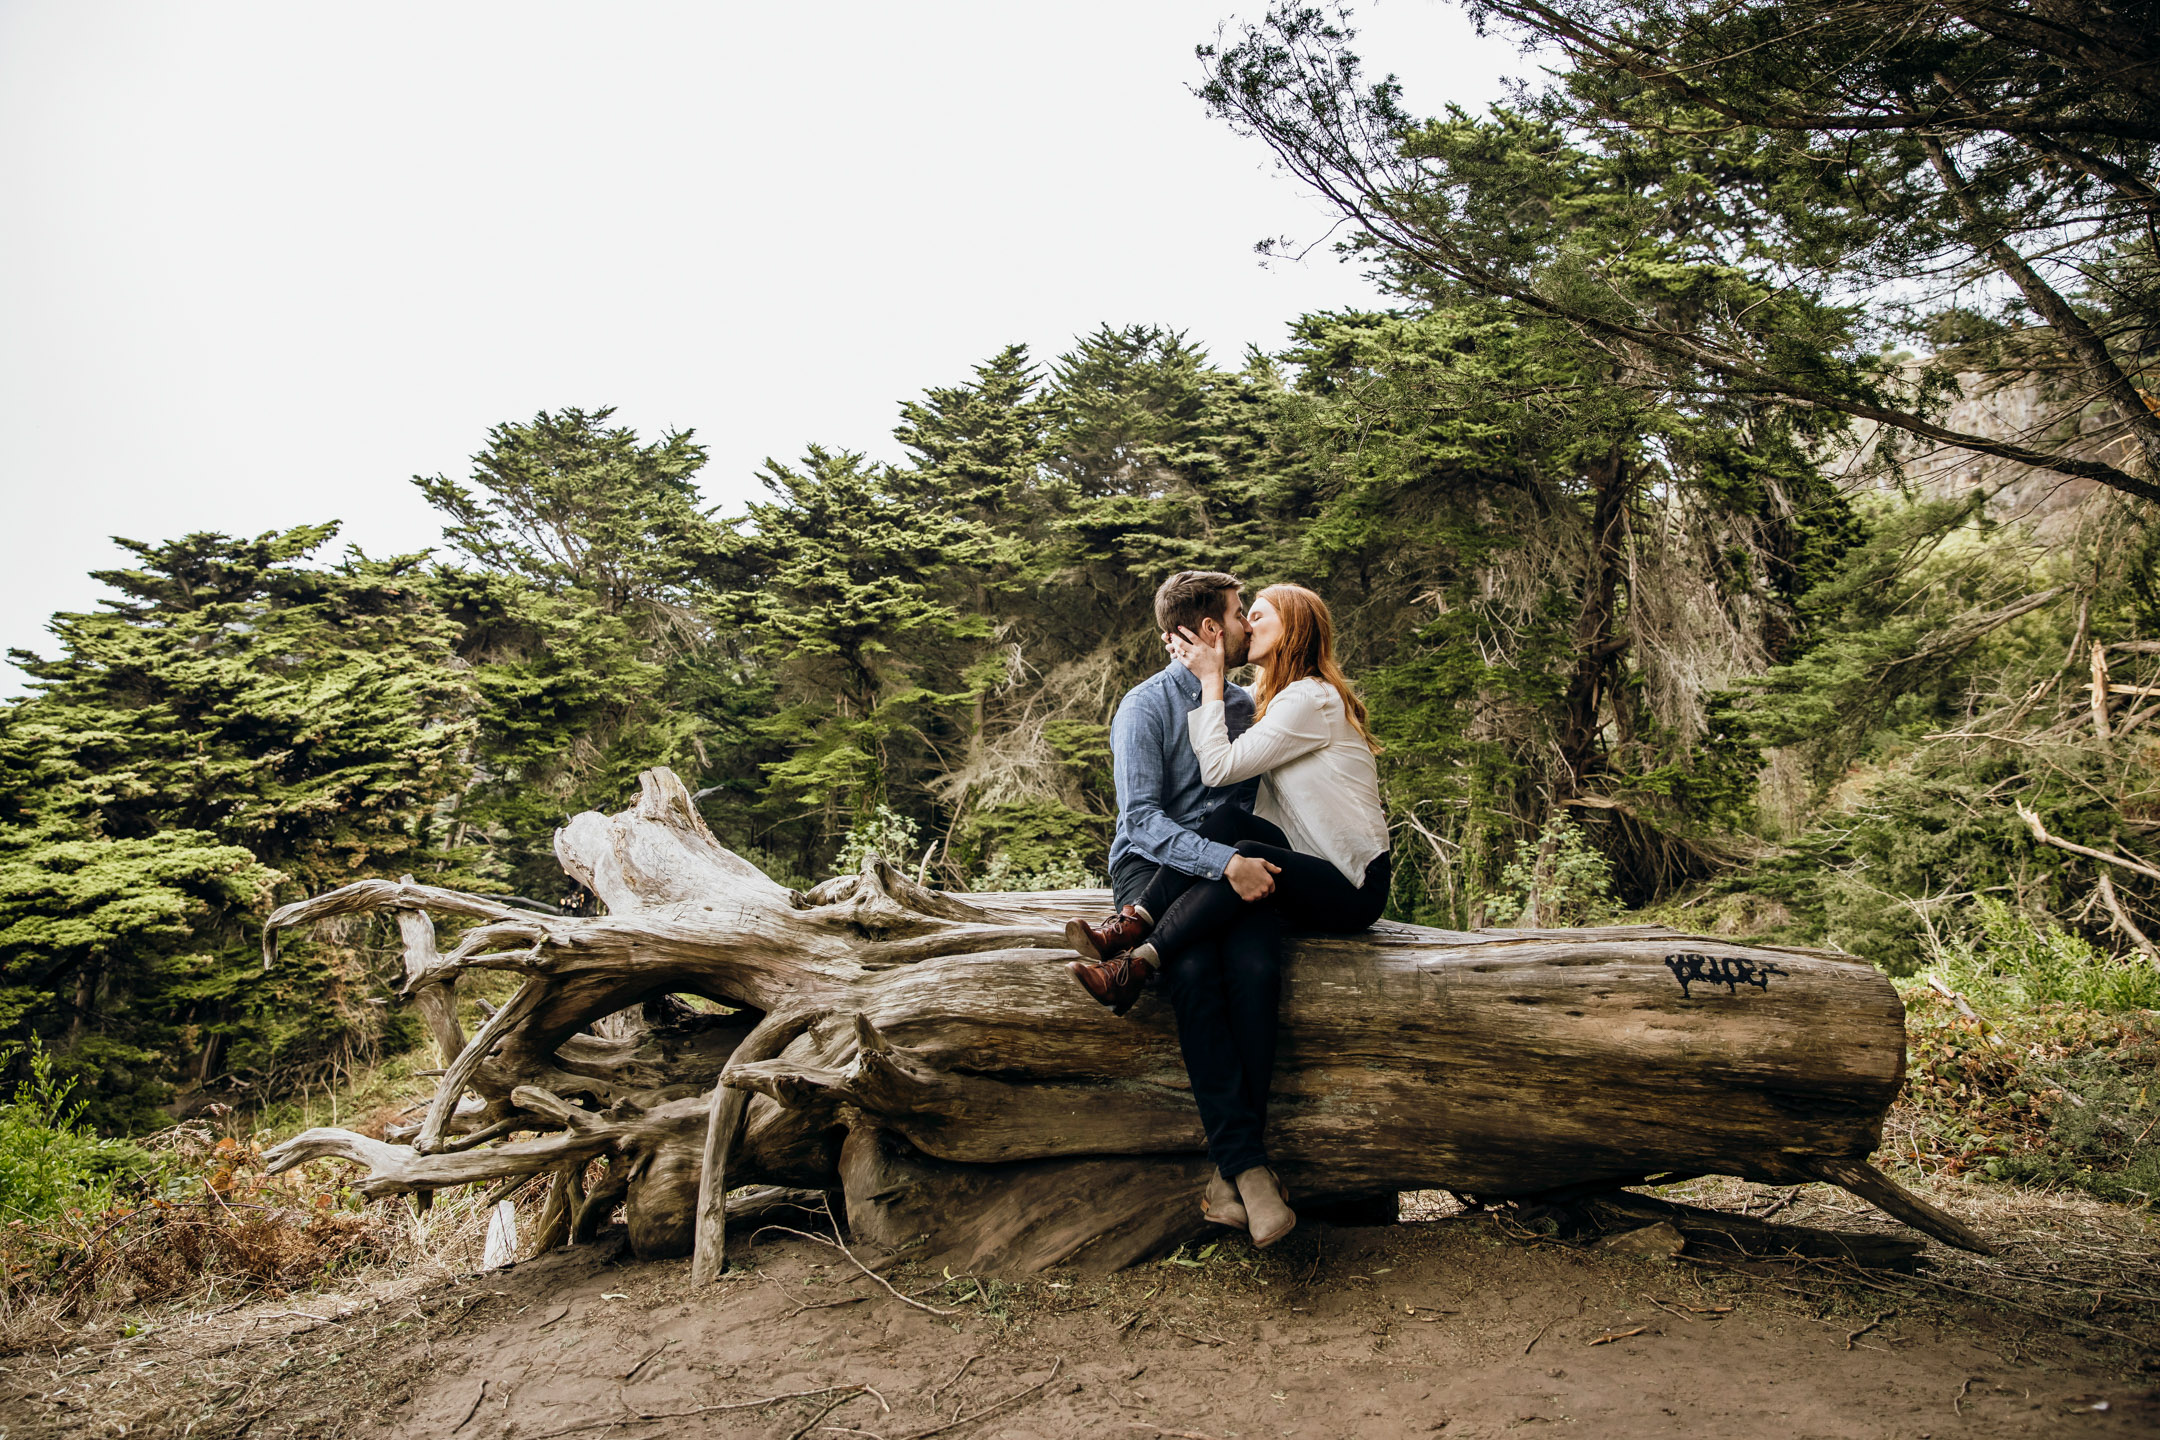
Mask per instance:
[[[637,1254],[696,1250],[700,1276],[724,1211],[795,1192],[836,1194],[858,1239],[970,1269],[1117,1267],[1201,1228],[1169,1006],[1112,1019],[1065,974],[1058,926],[1102,892],[955,896],[877,857],[793,892],[724,848],[674,773],[642,784],[631,810],[555,836],[605,915],[406,877],[270,918],[266,965],[283,928],[395,913],[445,1064],[408,1131],[311,1129],[272,1168],[341,1157],[367,1168],[365,1194],[421,1203],[549,1174],[542,1248],[620,1207]],[[482,924],[441,954],[430,915]],[[451,1004],[469,969],[523,976],[471,1038]],[[1298,939],[1270,1149],[1302,1205],[1823,1179],[1985,1248],[1866,1164],[1903,1021],[1851,956],[1657,926]]]

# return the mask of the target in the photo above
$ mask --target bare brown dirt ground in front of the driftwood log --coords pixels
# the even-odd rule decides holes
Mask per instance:
[[[1892,1228],[1825,1187],[1674,1198],[1780,1196],[1780,1220]],[[603,1241],[15,1354],[0,1436],[2160,1434],[2160,1228],[2119,1207],[1998,1203],[1976,1218],[2004,1254],[1929,1248],[1912,1274],[1637,1256],[1445,1209],[1117,1276],[883,1272],[944,1315],[791,1235],[734,1237],[704,1291]]]

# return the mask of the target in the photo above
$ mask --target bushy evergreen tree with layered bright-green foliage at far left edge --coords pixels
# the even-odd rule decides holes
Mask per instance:
[[[421,557],[309,563],[335,525],[121,544],[119,598],[15,652],[0,972],[13,1028],[95,1075],[134,1123],[173,1079],[257,1077],[380,1032],[341,948],[272,976],[253,924],[382,870],[443,864],[469,689]]]

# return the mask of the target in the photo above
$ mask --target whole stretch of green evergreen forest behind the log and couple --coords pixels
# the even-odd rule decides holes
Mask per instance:
[[[264,913],[585,907],[551,833],[654,764],[784,883],[1093,883],[1186,566],[1335,607],[1393,915],[2160,965],[2149,9],[1493,2],[1553,69],[1484,114],[1270,13],[1201,99],[1369,311],[1002,345],[739,516],[693,434],[562,408],[415,479],[426,555],[125,540],[0,708],[0,1038],[110,1129],[408,1045],[393,935],[264,974]]]

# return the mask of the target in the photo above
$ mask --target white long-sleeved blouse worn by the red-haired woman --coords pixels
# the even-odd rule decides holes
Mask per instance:
[[[1292,851],[1326,859],[1352,885],[1365,883],[1365,866],[1387,853],[1380,766],[1333,684],[1292,680],[1236,741],[1220,699],[1201,704],[1186,728],[1201,779],[1233,786],[1259,775],[1253,814],[1279,825]]]

